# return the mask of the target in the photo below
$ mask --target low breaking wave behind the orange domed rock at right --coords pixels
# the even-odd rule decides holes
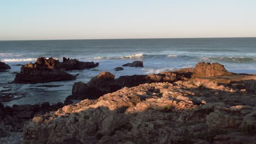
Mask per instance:
[[[201,57],[201,61],[256,62],[256,57]]]

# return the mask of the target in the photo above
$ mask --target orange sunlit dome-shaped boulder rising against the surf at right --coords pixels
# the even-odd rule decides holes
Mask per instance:
[[[210,76],[218,76],[218,75],[230,75],[228,70],[224,68],[222,64],[219,63],[205,63],[200,62],[197,63],[194,69],[194,78],[198,77],[210,77]]]

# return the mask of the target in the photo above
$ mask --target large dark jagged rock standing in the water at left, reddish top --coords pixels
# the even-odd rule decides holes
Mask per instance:
[[[60,69],[56,59],[40,57],[36,63],[22,65],[20,73],[15,77],[15,83],[44,83],[52,81],[74,80],[75,76]]]

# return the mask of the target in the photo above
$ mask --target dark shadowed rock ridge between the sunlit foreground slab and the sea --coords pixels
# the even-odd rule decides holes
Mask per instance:
[[[108,79],[104,77],[108,77]],[[83,82],[75,82],[72,88],[72,95],[67,97],[67,99],[97,99],[103,94],[115,92],[122,87],[134,87],[143,83],[152,82],[175,82],[178,80],[187,80],[190,77],[190,72],[173,71],[151,75],[120,76],[118,79],[114,79],[114,75],[104,71],[86,84]]]

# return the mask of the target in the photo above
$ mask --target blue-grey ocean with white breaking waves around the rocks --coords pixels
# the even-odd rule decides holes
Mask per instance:
[[[37,57],[76,58],[84,62],[99,62],[96,68],[68,71],[79,74],[77,80],[47,84],[15,84],[19,64],[35,62]],[[122,75],[158,74],[194,67],[198,62],[218,62],[234,73],[256,74],[256,38],[182,38],[182,39],[106,39],[106,40],[24,40],[0,41],[0,61],[11,69],[0,73],[0,99],[4,105],[51,104],[63,102],[71,95],[74,82],[88,82],[102,71],[118,78]],[[144,68],[115,67],[143,61]],[[18,64],[18,65],[17,65]],[[60,85],[44,87],[42,85]]]

